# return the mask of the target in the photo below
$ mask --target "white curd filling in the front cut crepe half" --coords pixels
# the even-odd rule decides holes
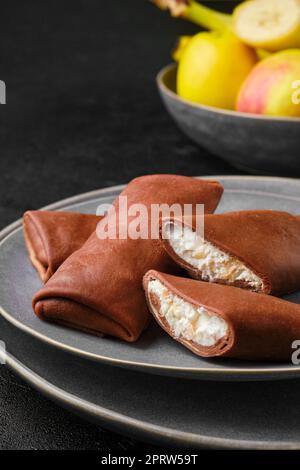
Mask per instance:
[[[184,338],[201,346],[214,346],[227,334],[223,318],[204,307],[195,307],[169,291],[158,279],[148,283],[149,294],[160,302],[159,315],[167,321],[176,338]]]

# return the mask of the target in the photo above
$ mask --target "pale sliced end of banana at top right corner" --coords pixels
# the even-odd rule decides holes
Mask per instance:
[[[276,52],[300,47],[300,0],[248,0],[233,12],[235,34],[252,47]]]

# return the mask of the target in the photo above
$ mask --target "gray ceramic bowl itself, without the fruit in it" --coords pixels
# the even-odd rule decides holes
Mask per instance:
[[[300,174],[300,119],[262,117],[180,98],[176,65],[157,76],[161,97],[180,129],[197,144],[252,173]]]

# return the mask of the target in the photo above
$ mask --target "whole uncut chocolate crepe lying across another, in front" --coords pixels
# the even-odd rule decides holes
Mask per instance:
[[[175,175],[136,178],[114,202],[102,220],[109,227],[119,220],[123,201],[130,208],[141,204],[151,222],[152,205],[205,204],[215,210],[223,188],[217,182]],[[115,210],[115,213],[114,213]],[[122,213],[122,211],[121,211]],[[118,229],[128,227],[136,216],[122,215]],[[98,227],[99,228],[99,227]],[[135,341],[149,322],[142,278],[148,269],[176,272],[178,267],[163,250],[158,237],[143,239],[118,236],[99,238],[93,233],[71,255],[33,299],[35,313],[44,320],[61,323],[93,334],[106,334]]]

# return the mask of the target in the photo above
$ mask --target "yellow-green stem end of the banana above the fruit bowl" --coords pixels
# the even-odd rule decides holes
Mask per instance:
[[[185,18],[206,29],[224,31],[231,28],[232,15],[206,7],[195,0],[152,0],[159,8],[170,10],[172,16]]]

